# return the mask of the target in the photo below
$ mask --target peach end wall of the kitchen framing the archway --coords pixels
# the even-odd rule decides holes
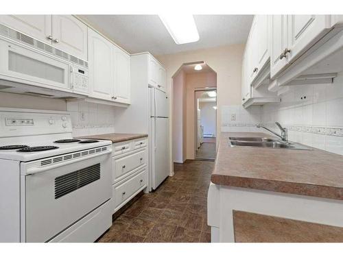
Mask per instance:
[[[160,60],[167,70],[167,92],[169,95],[172,95],[170,94],[172,92],[171,77],[184,63],[204,61],[217,73],[217,134],[220,133],[222,124],[221,106],[241,104],[241,60],[244,47],[244,44],[228,45],[157,56],[158,60]],[[172,108],[169,108],[169,110],[171,112]],[[170,113],[169,116],[172,117],[172,114]],[[172,124],[170,126],[171,130]],[[172,145],[171,134],[169,141],[170,145]],[[172,151],[169,152],[171,153]],[[172,171],[172,163],[170,163],[170,166]]]

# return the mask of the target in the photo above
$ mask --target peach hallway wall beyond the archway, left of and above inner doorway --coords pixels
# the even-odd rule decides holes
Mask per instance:
[[[195,90],[206,86],[217,86],[217,74],[210,73],[190,73],[186,76],[187,95],[187,159],[194,159],[196,148],[196,103]]]

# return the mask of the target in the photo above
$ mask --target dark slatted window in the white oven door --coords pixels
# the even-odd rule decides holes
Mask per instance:
[[[100,164],[94,164],[55,178],[55,199],[100,179]]]

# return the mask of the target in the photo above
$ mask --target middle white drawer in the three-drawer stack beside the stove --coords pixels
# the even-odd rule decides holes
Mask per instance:
[[[129,171],[143,164],[147,164],[145,153],[146,151],[143,150],[121,158],[113,158],[113,183]]]

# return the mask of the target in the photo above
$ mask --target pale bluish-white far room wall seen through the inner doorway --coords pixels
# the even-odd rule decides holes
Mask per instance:
[[[213,134],[215,136],[215,117],[217,111],[213,106],[216,106],[215,102],[200,102],[200,120],[201,125],[204,126],[204,134]]]

